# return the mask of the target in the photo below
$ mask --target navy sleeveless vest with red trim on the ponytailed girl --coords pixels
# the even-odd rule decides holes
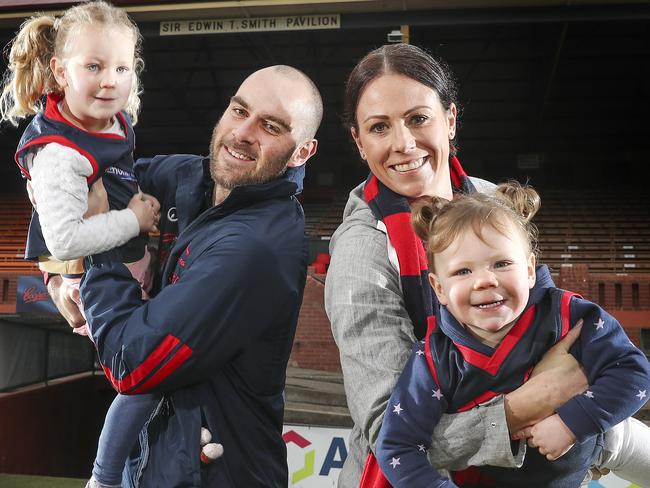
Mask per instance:
[[[37,114],[25,129],[15,156],[20,170],[26,178],[30,178],[25,163],[25,155],[30,148],[51,142],[70,147],[86,157],[93,167],[93,173],[88,177],[88,188],[102,178],[110,210],[125,209],[138,192],[138,183],[133,173],[135,135],[131,120],[124,113],[117,114],[126,137],[112,133],[86,132],[65,120],[57,106],[60,100],[60,96],[48,95],[45,111]],[[145,240],[142,237],[136,237],[120,246],[123,262],[134,262],[142,258],[144,246]],[[36,260],[39,256],[49,255],[51,253],[43,239],[38,213],[34,211],[29,224],[25,259]]]

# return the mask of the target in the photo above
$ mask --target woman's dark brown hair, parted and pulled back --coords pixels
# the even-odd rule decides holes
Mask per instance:
[[[357,105],[366,86],[384,74],[398,74],[428,86],[438,94],[445,110],[458,106],[456,80],[447,64],[411,44],[386,44],[370,51],[354,67],[345,84],[344,122],[349,130],[358,130]],[[455,140],[455,138],[454,138]],[[451,153],[456,153],[454,140]]]

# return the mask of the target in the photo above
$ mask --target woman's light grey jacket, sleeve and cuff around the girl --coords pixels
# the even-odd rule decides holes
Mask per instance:
[[[485,180],[472,182],[480,192],[494,188]],[[325,310],[354,421],[339,487],[356,488],[369,444],[374,448],[388,398],[415,341],[399,271],[392,264],[395,260],[389,260],[387,236],[363,199],[363,184],[350,192],[330,254]],[[521,443],[516,457],[510,446],[503,399],[498,398],[468,412],[443,416],[434,432],[432,464],[455,469],[470,463],[520,466],[525,446]]]

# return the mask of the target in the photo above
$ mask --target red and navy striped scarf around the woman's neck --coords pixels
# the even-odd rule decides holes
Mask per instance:
[[[476,191],[456,156],[449,158],[449,169],[454,193]],[[411,227],[411,207],[406,197],[385,186],[372,173],[366,180],[364,196],[374,216],[386,226],[388,239],[397,253],[404,303],[415,337],[420,340],[433,320],[435,295],[429,285],[426,251]]]

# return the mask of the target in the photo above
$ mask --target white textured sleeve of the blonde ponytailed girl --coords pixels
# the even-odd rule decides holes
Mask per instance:
[[[30,171],[45,244],[62,261],[121,246],[140,232],[131,209],[111,210],[84,219],[88,209],[87,158],[61,144],[45,145]]]

